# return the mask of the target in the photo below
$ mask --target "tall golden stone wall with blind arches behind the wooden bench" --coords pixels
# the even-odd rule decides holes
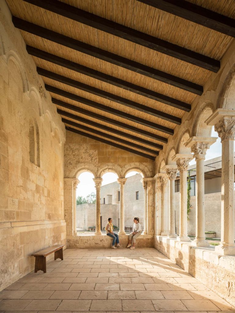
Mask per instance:
[[[66,243],[65,127],[24,40],[0,10],[0,290],[34,269],[32,253]]]

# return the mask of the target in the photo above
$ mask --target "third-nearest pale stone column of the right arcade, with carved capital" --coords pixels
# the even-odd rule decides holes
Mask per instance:
[[[193,159],[191,154],[176,154],[172,160],[176,161],[180,171],[180,234],[178,241],[191,241],[188,237],[187,227],[187,169],[189,161]]]

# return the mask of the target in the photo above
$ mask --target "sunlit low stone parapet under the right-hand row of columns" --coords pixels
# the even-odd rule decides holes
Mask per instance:
[[[235,256],[154,236],[154,247],[231,305],[235,305]]]

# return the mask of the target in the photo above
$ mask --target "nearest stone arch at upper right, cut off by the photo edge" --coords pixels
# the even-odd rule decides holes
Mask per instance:
[[[226,72],[227,68],[225,68]],[[231,70],[223,79],[223,84],[220,89],[216,108],[234,110],[235,99],[235,63],[232,65]]]

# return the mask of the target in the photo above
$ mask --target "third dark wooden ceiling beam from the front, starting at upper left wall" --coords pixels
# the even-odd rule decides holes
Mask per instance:
[[[104,60],[111,64],[115,64],[125,69],[131,70],[133,72],[148,76],[155,80],[162,81],[166,84],[175,86],[177,88],[187,90],[196,95],[201,95],[203,93],[203,87],[195,83],[192,83],[191,81],[184,80],[177,76],[159,71],[157,69],[153,69],[149,66],[140,64],[130,59],[123,58],[117,54],[113,54],[111,52],[102,50],[89,44],[85,44],[74,38],[70,38],[60,33],[56,33],[52,30],[49,30],[47,28],[43,28],[33,23],[29,23],[15,16],[12,17],[12,22],[16,28],[24,30],[28,33],[32,33],[36,36],[45,38],[47,40],[53,41],[57,44],[61,44],[70,49],[80,51],[81,53],[91,55],[94,58]]]

